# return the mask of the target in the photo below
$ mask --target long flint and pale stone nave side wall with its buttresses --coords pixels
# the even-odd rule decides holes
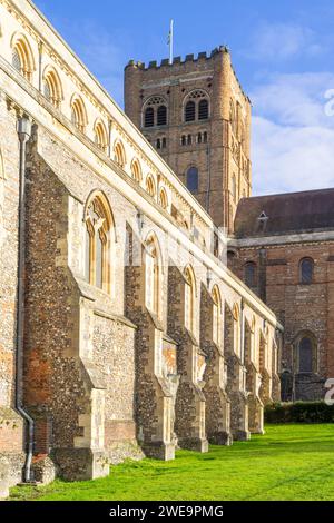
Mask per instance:
[[[0,18],[2,496],[22,481],[28,443],[31,472],[47,483],[100,477],[129,457],[171,460],[178,446],[207,452],[208,440],[229,444],[232,434],[247,438],[263,420],[249,381],[257,404],[248,426],[246,371],[259,373],[261,356],[255,343],[244,361],[243,319],[252,318],[266,342],[261,372],[269,385],[262,399],[272,401],[279,388],[269,354],[282,330],[275,315],[223,263],[226,238],[210,216],[33,4],[0,1]],[[12,66],[12,34],[29,42],[38,71]],[[62,87],[56,105],[43,89],[50,68]],[[85,122],[72,118],[79,98]],[[18,122],[28,120],[20,158]],[[109,130],[107,144],[97,139],[97,122]],[[19,174],[27,187],[20,246]],[[24,333],[17,381],[19,247]],[[213,285],[222,296],[215,336]],[[224,308],[240,313],[242,304],[242,316],[224,316]],[[33,420],[31,438],[18,404]]]

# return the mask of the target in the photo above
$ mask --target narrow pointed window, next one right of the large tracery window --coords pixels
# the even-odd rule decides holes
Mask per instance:
[[[160,316],[160,270],[157,239],[150,236],[145,243],[145,302],[157,316]]]

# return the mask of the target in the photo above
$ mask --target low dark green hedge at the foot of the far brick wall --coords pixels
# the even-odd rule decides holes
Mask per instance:
[[[324,402],[275,403],[265,408],[266,423],[334,423],[334,405]]]

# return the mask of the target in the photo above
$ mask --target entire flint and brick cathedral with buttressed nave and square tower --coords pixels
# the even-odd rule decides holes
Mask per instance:
[[[0,0],[0,496],[322,398],[333,195],[252,197],[225,47],[130,61],[124,112],[31,0]]]

